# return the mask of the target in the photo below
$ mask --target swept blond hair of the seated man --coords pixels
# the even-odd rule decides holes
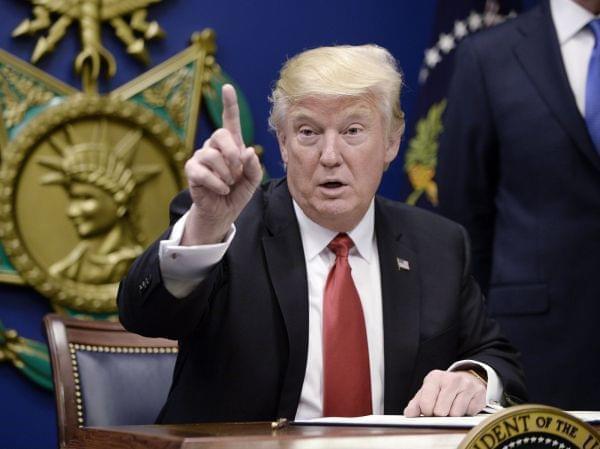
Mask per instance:
[[[307,97],[362,97],[379,108],[389,134],[402,135],[401,88],[402,74],[385,48],[340,45],[307,50],[283,65],[269,98],[269,126],[280,130],[289,107]]]

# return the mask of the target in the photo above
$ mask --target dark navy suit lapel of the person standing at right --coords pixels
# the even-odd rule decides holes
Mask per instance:
[[[519,63],[576,147],[600,170],[600,157],[569,84],[549,2],[543,2],[523,19],[523,38],[514,47]]]

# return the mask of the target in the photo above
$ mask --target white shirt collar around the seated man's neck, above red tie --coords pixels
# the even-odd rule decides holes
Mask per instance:
[[[300,227],[302,236],[302,245],[304,253],[308,260],[318,256],[321,251],[327,248],[329,242],[338,234],[337,231],[327,229],[306,216],[296,201],[293,201],[294,212]],[[373,239],[375,235],[375,201],[371,200],[369,209],[362,217],[360,222],[348,232],[348,235],[354,242],[358,254],[371,263],[373,258]]]

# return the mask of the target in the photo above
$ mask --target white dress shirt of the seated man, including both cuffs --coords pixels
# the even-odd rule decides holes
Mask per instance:
[[[304,249],[309,296],[308,354],[296,419],[310,419],[323,416],[322,303],[327,276],[335,262],[335,255],[327,245],[337,232],[312,221],[296,202],[294,202],[294,211]],[[180,246],[187,216],[187,213],[183,215],[173,226],[169,239],[162,240],[159,244],[159,263],[165,288],[177,298],[187,296],[202,282],[210,268],[224,257],[236,234],[235,226],[232,225],[223,243]],[[373,414],[383,414],[385,385],[383,312],[379,253],[374,229],[375,207],[372,201],[360,223],[348,233],[355,244],[348,255],[348,262],[352,268],[352,278],[365,317]],[[401,295],[402,293],[399,292],[399,296]],[[504,390],[500,378],[490,366],[474,360],[460,360],[452,364],[448,370],[465,369],[469,366],[485,369],[486,403],[498,404]]]

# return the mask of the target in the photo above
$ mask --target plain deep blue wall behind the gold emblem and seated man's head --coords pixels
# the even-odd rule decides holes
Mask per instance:
[[[448,1],[448,0],[446,0]],[[245,93],[255,121],[255,141],[265,148],[271,176],[282,175],[275,139],[267,131],[267,96],[282,62],[297,52],[319,45],[377,43],[399,60],[406,76],[403,106],[412,129],[411,111],[418,92],[417,74],[431,37],[436,0],[164,0],[149,9],[167,32],[163,41],[151,42],[153,64],[181,51],[192,32],[211,27],[217,33],[217,60]],[[13,39],[11,31],[31,16],[31,4],[0,0],[0,48],[29,60],[34,38]],[[118,61],[118,72],[108,91],[145,69],[126,55],[112,29],[103,28],[103,41]],[[55,53],[38,67],[79,87],[73,60],[79,51],[77,28],[72,25]],[[201,121],[198,141],[210,132]],[[403,145],[405,148],[405,145]],[[385,196],[404,200],[409,193],[402,171],[403,158],[391,166],[381,188]],[[165,211],[166,212],[166,211]],[[47,301],[28,288],[0,285],[0,319],[26,337],[41,340],[41,319],[50,311]],[[56,447],[54,398],[0,363],[0,447]]]

